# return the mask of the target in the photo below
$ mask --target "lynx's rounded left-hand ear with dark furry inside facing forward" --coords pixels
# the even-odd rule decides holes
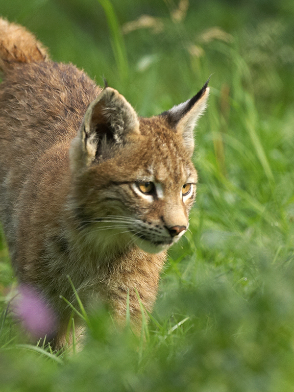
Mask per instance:
[[[105,145],[124,144],[133,132],[139,133],[135,110],[117,90],[104,88],[90,103],[81,128],[88,160],[99,156]]]

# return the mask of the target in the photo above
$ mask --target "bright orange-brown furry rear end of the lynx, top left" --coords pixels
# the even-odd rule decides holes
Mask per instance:
[[[6,73],[17,63],[46,61],[47,51],[24,27],[0,18],[0,70]]]

